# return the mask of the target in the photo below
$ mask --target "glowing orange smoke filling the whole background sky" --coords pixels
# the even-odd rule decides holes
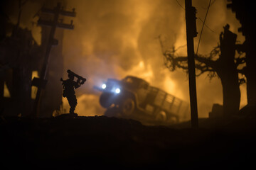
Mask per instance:
[[[26,21],[21,26],[30,26],[36,40],[39,27],[31,26],[34,13],[46,1],[29,1],[24,8]],[[49,3],[49,1],[47,1]],[[178,4],[179,2],[179,4]],[[95,0],[65,1],[66,9],[75,8],[75,18],[64,18],[67,23],[73,19],[74,30],[65,30],[63,40],[64,68],[87,78],[77,89],[79,115],[100,115],[104,112],[98,103],[100,92],[93,86],[100,86],[108,78],[122,79],[127,75],[141,77],[153,86],[164,89],[170,94],[189,102],[188,77],[186,72],[176,70],[169,72],[164,66],[164,57],[159,43],[159,36],[164,38],[164,47],[181,47],[186,45],[186,24],[183,0]],[[34,6],[31,8],[31,6]],[[55,6],[55,4],[52,4]],[[198,45],[203,19],[206,15],[208,1],[193,0],[198,10],[198,37],[194,38],[195,51]],[[17,7],[18,8],[18,7]],[[28,11],[30,11],[28,13]],[[11,16],[16,18],[17,13]],[[28,18],[30,18],[28,20]],[[14,19],[15,23],[15,19]],[[198,53],[206,55],[218,43],[223,26],[230,24],[230,30],[238,34],[238,40],[244,38],[238,33],[240,23],[235,13],[226,8],[226,1],[212,1],[203,29]],[[186,55],[186,47],[178,50],[179,55]],[[63,73],[67,78],[67,73]],[[220,79],[211,81],[207,74],[197,79],[198,114],[208,117],[213,103],[222,103],[222,86]],[[247,103],[245,86],[241,86],[241,106]],[[63,98],[64,108],[68,102]]]

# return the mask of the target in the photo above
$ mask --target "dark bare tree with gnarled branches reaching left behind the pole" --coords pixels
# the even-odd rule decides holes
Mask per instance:
[[[245,56],[240,52],[239,44],[236,44],[237,35],[229,30],[229,25],[224,27],[224,32],[220,33],[220,43],[214,47],[209,55],[196,56],[196,76],[208,73],[208,77],[219,77],[223,86],[223,114],[230,115],[239,111],[240,107],[240,84],[245,83],[245,79],[239,79],[238,74],[245,74],[245,67],[240,69],[240,64],[245,63]],[[161,42],[161,41],[160,41]],[[163,43],[161,42],[163,48]],[[238,56],[235,57],[235,51]],[[164,64],[171,72],[177,68],[188,72],[188,57],[177,56],[176,49],[163,52]]]

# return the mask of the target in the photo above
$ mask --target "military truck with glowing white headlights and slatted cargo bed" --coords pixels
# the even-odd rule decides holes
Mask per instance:
[[[107,108],[107,116],[178,123],[189,114],[188,103],[138,77],[107,79],[95,89],[102,91],[100,105]]]

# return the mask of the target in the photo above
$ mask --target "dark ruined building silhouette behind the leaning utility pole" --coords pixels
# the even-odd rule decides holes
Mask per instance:
[[[56,3],[47,7],[53,8]],[[41,18],[50,18],[40,14]],[[5,116],[29,116],[33,109],[36,87],[31,86],[33,77],[40,75],[43,57],[46,52],[50,27],[41,26],[41,45],[38,45],[31,30],[23,29],[8,23],[8,17],[1,15],[1,23],[11,29],[11,36],[6,36],[6,29],[1,29],[0,40],[0,111]],[[8,24],[7,24],[8,23]],[[8,27],[7,27],[8,26]],[[52,47],[48,64],[48,83],[43,90],[38,104],[38,116],[50,117],[62,103],[62,86],[60,77],[63,74],[62,42],[63,30],[55,30],[58,45]]]

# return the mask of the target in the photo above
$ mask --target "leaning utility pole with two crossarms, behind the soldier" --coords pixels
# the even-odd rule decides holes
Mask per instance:
[[[49,8],[42,8],[41,9],[42,13],[50,13],[54,15],[53,21],[46,21],[43,20],[41,18],[38,19],[38,25],[41,26],[50,26],[50,35],[48,38],[48,43],[47,43],[47,47],[46,47],[46,53],[45,53],[45,57],[43,60],[43,67],[41,69],[41,74],[39,78],[34,78],[32,81],[32,86],[37,86],[38,87],[38,91],[36,93],[36,99],[34,101],[34,105],[33,105],[33,111],[32,111],[32,116],[33,117],[38,117],[38,104],[41,98],[41,92],[42,89],[45,89],[46,84],[47,84],[47,79],[46,79],[46,75],[48,72],[48,62],[50,59],[50,50],[51,47],[53,45],[58,45],[58,40],[54,39],[54,34],[55,34],[55,30],[56,28],[65,28],[65,29],[70,29],[73,30],[74,29],[74,25],[73,25],[73,21],[71,20],[70,24],[66,24],[63,23],[62,21],[59,22],[59,16],[71,16],[71,17],[75,17],[76,13],[75,13],[75,8],[73,8],[73,11],[63,11],[63,8],[61,8],[61,4],[58,3],[57,6],[53,9],[49,9]]]

